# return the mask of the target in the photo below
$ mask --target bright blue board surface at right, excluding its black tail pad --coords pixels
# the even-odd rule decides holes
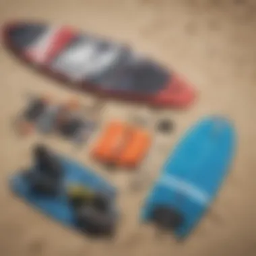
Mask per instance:
[[[184,222],[174,230],[185,238],[201,219],[228,173],[236,144],[234,127],[223,117],[205,117],[181,139],[166,160],[141,211],[150,220],[157,205],[178,210]]]

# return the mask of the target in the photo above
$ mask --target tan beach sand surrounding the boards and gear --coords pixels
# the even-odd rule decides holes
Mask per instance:
[[[139,224],[139,207],[150,187],[129,189],[130,173],[109,173],[88,156],[56,137],[20,139],[11,125],[26,94],[51,94],[56,100],[77,95],[22,65],[0,48],[0,252],[6,256],[254,256],[256,254],[256,3],[205,0],[0,0],[0,22],[12,19],[70,24],[84,31],[131,44],[179,71],[199,92],[188,110],[150,110],[132,103],[105,102],[98,110],[104,123],[148,115],[150,129],[160,117],[175,123],[173,133],[154,134],[155,144],[144,166],[152,179],[185,130],[204,115],[226,115],[236,126],[238,149],[218,197],[195,231],[178,243]],[[92,139],[93,140],[93,139]],[[31,146],[51,148],[95,168],[120,190],[122,218],[114,241],[93,241],[38,214],[7,187],[11,174],[30,163]],[[205,170],[207,172],[207,170]]]

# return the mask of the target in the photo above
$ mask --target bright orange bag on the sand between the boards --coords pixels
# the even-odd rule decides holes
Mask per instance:
[[[96,160],[135,168],[151,144],[148,131],[128,123],[111,122],[92,150]]]

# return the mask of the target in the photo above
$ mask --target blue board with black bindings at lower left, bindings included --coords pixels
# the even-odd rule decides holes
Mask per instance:
[[[93,236],[115,234],[117,190],[93,170],[43,146],[10,179],[11,191],[61,224]]]

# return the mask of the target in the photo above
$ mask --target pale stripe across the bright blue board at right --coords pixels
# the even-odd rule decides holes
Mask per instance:
[[[202,205],[210,203],[210,195],[208,195],[206,191],[199,189],[191,183],[187,183],[186,181],[174,177],[174,175],[165,175],[158,181],[158,184],[170,187],[177,193],[183,194]]]

